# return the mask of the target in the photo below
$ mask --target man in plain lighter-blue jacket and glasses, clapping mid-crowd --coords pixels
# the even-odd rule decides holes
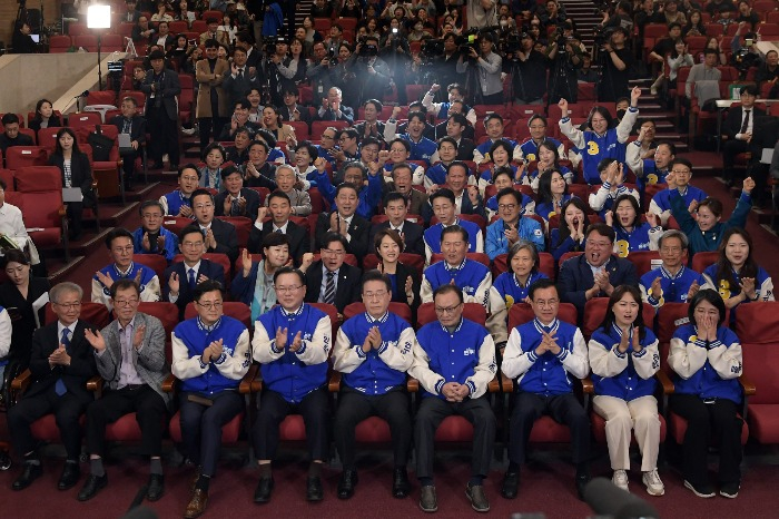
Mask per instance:
[[[544,231],[533,218],[522,217],[522,193],[512,187],[502,189],[496,196],[500,218],[486,229],[484,252],[490,260],[507,254],[509,247],[520,239],[532,242],[539,252],[545,249]]]

